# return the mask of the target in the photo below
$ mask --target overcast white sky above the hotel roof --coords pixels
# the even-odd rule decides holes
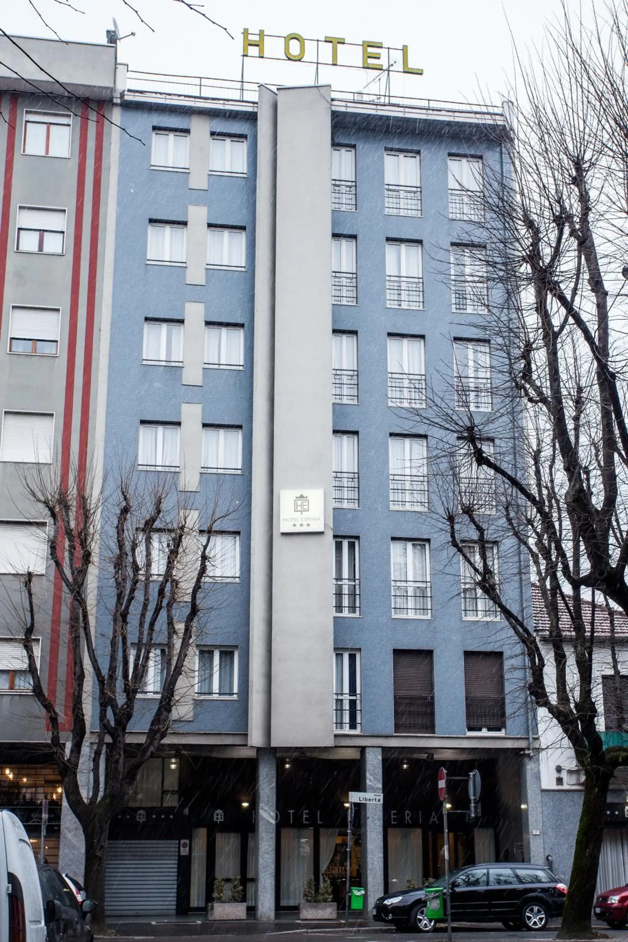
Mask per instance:
[[[242,29],[247,26],[251,32],[263,28],[280,36],[298,32],[313,39],[331,35],[347,42],[407,44],[410,65],[425,72],[394,76],[393,94],[453,101],[481,98],[496,103],[507,86],[506,76],[512,73],[509,31],[522,49],[539,44],[542,25],[556,16],[560,6],[559,0],[314,0],[299,4],[288,0],[205,0],[203,9],[229,29],[231,40],[175,0],[130,0],[154,33],[122,0],[71,0],[84,13],[64,9],[65,0],[33,2],[64,40],[104,42],[105,30],[115,16],[122,35],[136,32],[135,37],[119,44],[119,59],[135,70],[239,79]],[[574,9],[577,3],[568,0]],[[4,0],[0,25],[14,35],[53,35],[29,0]],[[279,55],[283,55],[281,46]],[[374,75],[328,67],[321,70],[319,80],[335,89],[355,90],[362,89]],[[245,77],[271,85],[305,85],[314,81],[314,67],[249,58]]]

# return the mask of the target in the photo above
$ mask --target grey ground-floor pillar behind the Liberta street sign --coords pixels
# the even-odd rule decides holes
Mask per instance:
[[[383,791],[381,749],[362,749],[362,790]],[[371,906],[384,891],[384,809],[381,804],[362,804],[362,882],[366,890],[363,917],[371,918]]]

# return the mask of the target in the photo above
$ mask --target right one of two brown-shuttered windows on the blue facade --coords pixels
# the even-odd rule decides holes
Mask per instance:
[[[501,652],[464,652],[464,692],[467,732],[503,733],[506,701]]]

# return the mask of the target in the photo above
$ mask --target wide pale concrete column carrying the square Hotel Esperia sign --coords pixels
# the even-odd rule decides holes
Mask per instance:
[[[276,239],[271,745],[332,746],[327,86],[279,89]],[[280,533],[280,492],[293,488],[324,490],[323,533]]]

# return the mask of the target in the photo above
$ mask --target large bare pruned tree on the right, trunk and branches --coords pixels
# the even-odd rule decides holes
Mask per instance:
[[[627,30],[623,2],[590,30],[564,10],[539,60],[519,60],[494,129],[501,166],[487,163],[460,223],[473,302],[459,308],[490,339],[491,382],[458,366],[430,403],[463,602],[512,629],[534,704],[584,771],[563,938],[591,934],[606,794],[628,765],[628,734],[604,738],[593,675],[600,612],[606,625],[628,613]],[[545,641],[508,578],[529,572]]]

